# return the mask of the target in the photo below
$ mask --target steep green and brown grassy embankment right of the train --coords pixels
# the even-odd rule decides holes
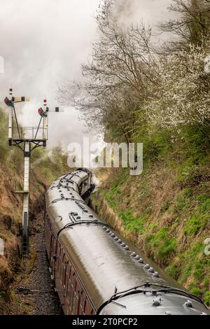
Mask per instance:
[[[123,234],[210,305],[210,256],[204,254],[210,237],[210,150],[204,136],[190,127],[184,140],[169,144],[167,134],[157,134],[144,145],[143,174],[111,170],[102,179],[101,201],[93,202],[100,205],[104,198]],[[103,174],[101,169],[98,175]]]

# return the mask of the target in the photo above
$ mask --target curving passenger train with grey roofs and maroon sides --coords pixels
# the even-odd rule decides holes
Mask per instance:
[[[45,195],[45,246],[66,315],[206,315],[199,297],[169,286],[84,201],[92,173],[77,169]]]

